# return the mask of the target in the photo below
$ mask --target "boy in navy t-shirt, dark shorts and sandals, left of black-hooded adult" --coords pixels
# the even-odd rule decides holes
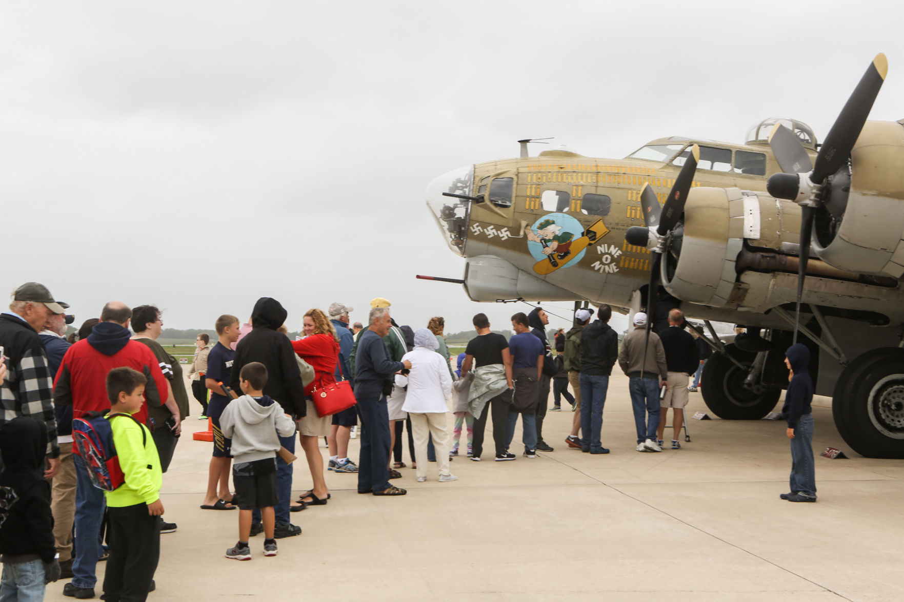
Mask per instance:
[[[204,384],[211,390],[207,417],[211,419],[213,428],[213,457],[207,477],[207,494],[204,495],[201,507],[204,510],[233,510],[236,506],[230,503],[232,495],[229,489],[232,441],[224,437],[220,429],[220,416],[231,398],[225,395],[220,384],[230,381],[232,356],[235,353],[230,345],[239,340],[239,318],[234,315],[221,315],[217,318],[216,329],[220,340],[207,356],[207,374],[204,380]]]

